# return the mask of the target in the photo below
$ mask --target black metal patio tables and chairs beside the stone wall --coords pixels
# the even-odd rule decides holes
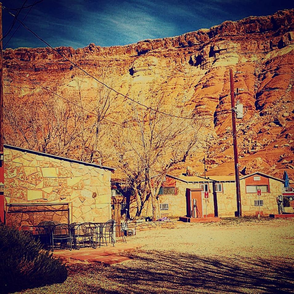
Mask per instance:
[[[80,247],[101,247],[112,244],[114,246],[114,234],[125,239],[125,224],[115,225],[115,220],[110,219],[106,223],[59,223],[56,221],[41,222],[37,226],[22,226],[34,239],[39,239],[46,248],[52,251],[56,249],[56,243],[71,250]]]

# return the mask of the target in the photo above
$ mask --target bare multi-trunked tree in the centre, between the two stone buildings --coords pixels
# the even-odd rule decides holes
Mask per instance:
[[[153,86],[147,93],[139,98],[148,108],[133,103],[125,127],[117,129],[112,140],[118,167],[135,191],[136,217],[149,198],[155,219],[163,178],[172,166],[184,162],[200,147],[204,123],[177,117],[183,116],[183,108],[165,104],[164,93],[154,90]]]

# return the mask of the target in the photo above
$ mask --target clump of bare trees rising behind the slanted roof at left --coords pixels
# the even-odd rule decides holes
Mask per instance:
[[[107,68],[101,66],[99,72],[100,80],[109,84]],[[66,88],[57,85],[49,93],[41,89],[23,100],[6,97],[6,143],[82,161],[93,162],[101,157],[102,137],[108,129],[105,117],[116,96],[97,83],[88,97],[87,87],[82,87],[88,82],[86,76],[74,70],[71,77],[71,86]]]

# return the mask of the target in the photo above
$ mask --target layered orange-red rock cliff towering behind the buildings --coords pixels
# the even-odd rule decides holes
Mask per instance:
[[[76,50],[55,49],[97,78],[107,68],[105,77],[123,94],[138,93],[153,83],[164,88],[167,103],[181,104],[197,116],[210,116],[209,148],[199,150],[214,159],[207,165],[208,174],[234,173],[229,82],[229,68],[233,68],[235,88],[240,89],[236,100],[244,105],[244,117],[237,120],[241,167],[259,157],[261,164],[253,169],[281,176],[287,168],[278,159],[285,153],[285,160],[290,160],[294,147],[294,10],[226,21],[210,29],[127,46],[89,44]],[[52,90],[58,85],[61,92],[70,88],[78,70],[56,51],[6,49],[6,97],[35,99],[39,91],[36,82]],[[89,76],[81,79],[84,99],[93,98],[97,83]],[[124,107],[124,98],[118,97],[113,112]],[[189,165],[203,170],[198,160]],[[185,164],[179,169],[174,172],[185,172]]]

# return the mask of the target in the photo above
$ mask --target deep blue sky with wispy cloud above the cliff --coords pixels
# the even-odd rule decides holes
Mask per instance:
[[[19,8],[25,0],[2,0],[7,8]],[[25,6],[34,3],[27,0]],[[225,20],[253,15],[269,15],[294,8],[292,1],[210,0],[44,0],[35,5],[24,23],[53,47],[81,48],[89,43],[99,46],[126,45],[144,39],[182,35],[210,28]],[[24,9],[22,19],[29,8]],[[3,34],[13,18],[2,11]],[[18,27],[3,40],[6,44]],[[22,26],[4,48],[46,47]]]

